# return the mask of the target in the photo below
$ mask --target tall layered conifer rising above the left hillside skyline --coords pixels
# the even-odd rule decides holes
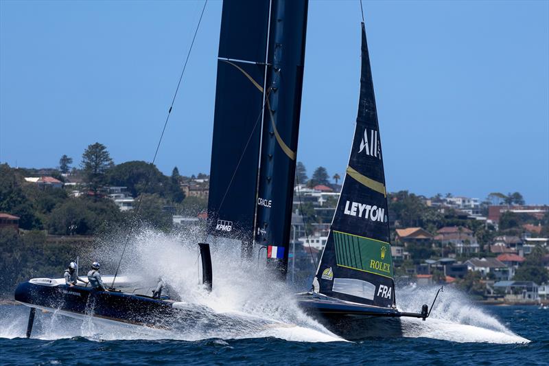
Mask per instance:
[[[113,167],[114,163],[113,159],[110,159],[106,146],[96,142],[86,148],[84,154],[82,154],[82,163],[80,165],[91,190],[97,192],[99,187],[105,183],[106,170]]]

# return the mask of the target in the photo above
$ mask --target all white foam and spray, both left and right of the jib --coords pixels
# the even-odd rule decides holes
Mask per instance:
[[[88,339],[246,339],[276,337],[288,341],[343,341],[318,322],[307,317],[297,306],[294,290],[274,281],[263,265],[244,263],[240,248],[211,247],[213,291],[200,286],[200,260],[196,242],[200,231],[168,236],[158,231],[143,230],[128,244],[121,274],[135,275],[154,283],[161,276],[176,291],[181,306],[188,304],[208,309],[191,326],[181,319],[173,332],[143,327],[122,328],[85,321],[60,314],[38,312],[33,336],[41,339],[84,336]],[[123,238],[104,240],[94,253],[103,268],[115,268]],[[82,268],[84,264],[81,262]],[[108,273],[108,272],[106,272]],[[110,284],[109,284],[110,285]],[[421,305],[432,301],[436,288],[399,288],[399,310],[418,312]],[[3,307],[2,307],[3,308]],[[21,307],[12,307],[21,308]],[[18,310],[0,313],[3,329],[0,337],[24,336],[28,312]],[[454,342],[526,343],[527,339],[508,330],[500,321],[467,301],[463,293],[445,288],[439,295],[427,321],[403,318],[404,336],[426,337]]]

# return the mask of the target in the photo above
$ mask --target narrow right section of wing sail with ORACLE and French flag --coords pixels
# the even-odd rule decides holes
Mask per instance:
[[[272,0],[271,8],[256,242],[266,247],[267,266],[281,277],[288,268],[307,5],[307,0]]]

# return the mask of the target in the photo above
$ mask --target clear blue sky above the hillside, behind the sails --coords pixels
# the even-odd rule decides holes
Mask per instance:
[[[0,1],[0,161],[105,144],[150,161],[202,1]],[[222,3],[209,1],[157,165],[209,171]],[[549,203],[549,2],[364,1],[387,187]],[[343,175],[360,5],[309,1],[298,160]]]

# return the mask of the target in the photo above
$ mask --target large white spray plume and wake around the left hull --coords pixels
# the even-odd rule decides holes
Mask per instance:
[[[183,237],[152,230],[141,231],[128,244],[120,271],[125,277],[135,277],[140,283],[156,283],[158,277],[163,277],[170,287],[172,298],[176,295],[178,299],[174,308],[198,308],[199,316],[182,316],[170,323],[172,330],[168,331],[110,325],[93,317],[82,321],[67,319],[56,313],[38,312],[33,337],[183,341],[276,337],[288,341],[343,341],[299,310],[290,287],[275,283],[272,276],[261,269],[264,266],[243,263],[240,253],[230,246],[211,247],[213,290],[208,293],[200,286],[198,275],[200,259],[196,238],[200,237],[200,232],[187,231]],[[114,243],[123,242],[119,239],[104,240],[94,253],[93,259],[100,260],[102,268],[105,268],[102,272],[106,274],[117,264],[121,248]],[[84,260],[80,263],[84,268]],[[0,336],[24,336],[27,308],[9,308],[11,312],[15,308],[18,310],[13,314],[0,314],[2,323],[9,324],[0,330]]]

